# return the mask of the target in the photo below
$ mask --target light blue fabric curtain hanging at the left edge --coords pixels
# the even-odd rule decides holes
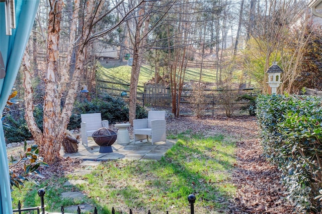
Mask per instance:
[[[39,0],[16,0],[16,29],[6,35],[5,3],[0,3],[0,111],[6,106],[35,20]],[[0,120],[0,214],[11,214],[9,166]]]

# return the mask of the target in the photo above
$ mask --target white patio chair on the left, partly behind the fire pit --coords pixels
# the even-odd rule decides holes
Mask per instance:
[[[109,121],[102,120],[101,113],[89,113],[81,114],[81,133],[82,133],[82,143],[88,146],[88,137],[99,128],[106,127],[109,128]]]

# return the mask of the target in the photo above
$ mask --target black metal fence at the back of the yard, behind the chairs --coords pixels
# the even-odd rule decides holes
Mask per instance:
[[[179,116],[250,116],[249,99],[243,95],[257,96],[257,93],[217,93],[207,95],[183,94],[180,100],[176,99],[179,106]],[[115,96],[115,95],[114,95]],[[129,96],[122,99],[128,103]],[[178,105],[178,103],[180,104]],[[138,94],[137,105],[149,110],[166,110],[172,112],[172,96],[170,94]]]

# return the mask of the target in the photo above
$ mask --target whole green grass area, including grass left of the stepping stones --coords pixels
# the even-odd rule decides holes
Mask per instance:
[[[102,162],[91,173],[52,177],[39,186],[27,183],[25,188],[12,192],[13,206],[18,200],[24,207],[40,204],[37,190],[46,189],[46,211],[60,211],[60,206],[87,202],[98,213],[190,213],[187,196],[196,195],[195,213],[225,213],[225,201],[236,191],[230,182],[235,163],[235,144],[223,135],[204,137],[185,131],[178,142],[161,160]],[[83,184],[63,184],[67,180],[83,180]],[[61,199],[66,191],[81,191],[82,200]]]

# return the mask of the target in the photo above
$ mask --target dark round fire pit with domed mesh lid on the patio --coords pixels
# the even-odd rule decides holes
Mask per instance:
[[[100,153],[113,152],[112,144],[116,141],[115,131],[106,127],[96,130],[92,135],[95,143],[100,146]]]

